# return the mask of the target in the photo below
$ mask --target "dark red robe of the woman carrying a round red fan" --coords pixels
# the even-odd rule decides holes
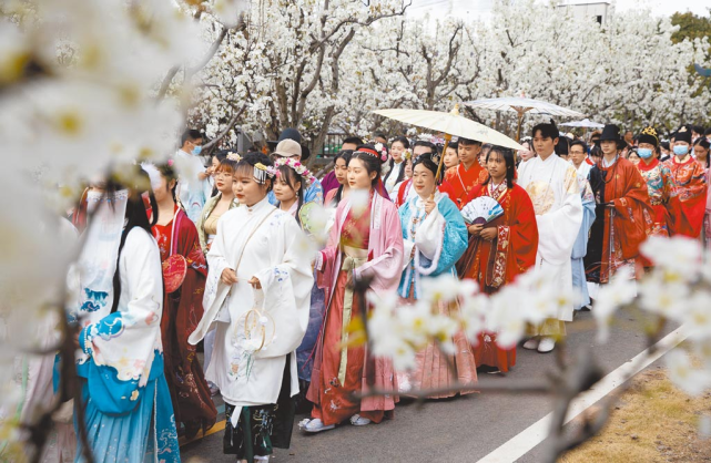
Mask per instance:
[[[203,316],[207,265],[200,248],[197,229],[182,209],[170,224],[154,226],[153,236],[159,243],[162,261],[173,254],[182,255],[187,261],[182,286],[164,296],[161,338],[175,423],[185,423],[190,436],[200,428],[204,431],[212,428],[217,418],[203,369],[195,357],[195,346],[187,342]]]

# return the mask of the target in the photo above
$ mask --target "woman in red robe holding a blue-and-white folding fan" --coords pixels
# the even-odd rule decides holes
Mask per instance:
[[[491,147],[486,166],[489,178],[474,187],[461,209],[470,237],[457,270],[460,278],[471,278],[484,292],[494,294],[536,263],[538,226],[528,193],[514,183],[514,152]],[[516,364],[516,346],[498,346],[496,333],[481,333],[474,353],[477,366],[490,372]]]

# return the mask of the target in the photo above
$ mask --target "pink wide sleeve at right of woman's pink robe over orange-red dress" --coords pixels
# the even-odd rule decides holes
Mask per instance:
[[[372,248],[373,258],[354,269],[353,274],[354,278],[372,277],[370,287],[384,296],[397,289],[403,272],[403,228],[395,205],[384,198],[378,200],[379,214],[383,215],[380,228],[370,230],[370,243],[375,238],[377,247]]]

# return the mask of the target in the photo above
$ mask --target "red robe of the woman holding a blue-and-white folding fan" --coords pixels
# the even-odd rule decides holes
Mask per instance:
[[[494,294],[536,264],[538,225],[530,197],[520,186],[506,188],[504,184],[491,192],[489,185],[476,185],[466,203],[480,196],[494,197],[504,208],[504,215],[485,226],[496,227],[498,236],[494,241],[470,236],[469,247],[457,264],[457,272],[460,278],[478,281],[481,291]],[[516,348],[499,348],[496,335],[486,332],[479,336],[474,357],[477,366],[498,367],[506,372],[516,364]]]

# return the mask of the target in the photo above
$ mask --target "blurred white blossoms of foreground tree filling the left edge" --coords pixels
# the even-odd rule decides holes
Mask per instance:
[[[243,8],[228,0],[0,4],[0,194],[8,203],[0,210],[2,460],[39,461],[52,412],[79,392],[71,360],[62,362],[51,404],[24,403],[26,391],[13,387],[17,359],[74,356],[64,307],[75,295],[67,282],[83,269],[69,271],[81,240],[64,212],[97,175],[134,182],[136,161],[175,151],[184,117],[180,103],[164,95],[181,94],[175,75],[190,78],[216,49],[200,40],[197,21],[210,17],[226,35]],[[22,363],[19,375],[27,377]],[[85,439],[82,408],[77,411]]]

